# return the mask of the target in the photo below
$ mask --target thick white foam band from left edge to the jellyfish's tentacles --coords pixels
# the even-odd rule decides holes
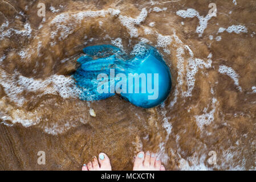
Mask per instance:
[[[71,77],[52,75],[46,80],[24,77],[15,72],[12,76],[1,69],[0,84],[7,97],[18,106],[22,106],[26,99],[22,92],[40,92],[38,97],[45,94],[59,94],[63,98],[77,98],[82,90],[75,86]]]

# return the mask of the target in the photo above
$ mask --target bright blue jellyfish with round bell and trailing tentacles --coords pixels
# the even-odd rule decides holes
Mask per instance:
[[[149,108],[163,102],[172,82],[169,67],[156,48],[138,44],[127,54],[111,45],[89,46],[79,57],[73,77],[80,100],[93,101],[120,94],[133,105]]]

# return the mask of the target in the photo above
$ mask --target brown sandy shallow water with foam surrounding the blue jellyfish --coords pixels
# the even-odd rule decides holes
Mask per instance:
[[[80,169],[102,151],[132,169],[140,150],[167,169],[256,169],[255,1],[215,1],[216,17],[199,0],[40,2],[45,18],[39,1],[0,1],[0,169]],[[164,104],[79,100],[84,47],[138,43],[170,68]]]

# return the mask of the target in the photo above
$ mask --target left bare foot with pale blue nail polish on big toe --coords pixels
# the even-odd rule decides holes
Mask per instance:
[[[87,165],[83,165],[82,171],[111,171],[110,160],[106,154],[100,153],[99,162],[95,156],[92,162],[90,161]]]

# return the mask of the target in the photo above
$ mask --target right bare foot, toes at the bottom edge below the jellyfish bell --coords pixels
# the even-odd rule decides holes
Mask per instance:
[[[133,171],[165,171],[160,160],[156,158],[155,154],[147,152],[139,152],[133,164]]]

